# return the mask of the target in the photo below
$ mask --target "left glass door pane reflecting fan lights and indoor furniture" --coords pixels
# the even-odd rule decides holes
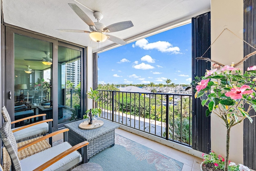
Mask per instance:
[[[51,42],[14,34],[14,111],[35,108],[46,113],[46,119],[53,118],[51,66]]]

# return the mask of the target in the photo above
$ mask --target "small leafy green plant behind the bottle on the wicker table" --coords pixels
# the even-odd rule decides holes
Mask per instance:
[[[100,95],[97,89],[93,90],[92,87],[90,87],[91,91],[88,91],[86,94],[88,95],[89,99],[92,99],[92,115],[99,115],[101,113],[100,108],[95,108],[96,102],[99,101]],[[84,115],[84,119],[87,118],[87,114],[90,112],[90,109],[86,111],[86,115]]]

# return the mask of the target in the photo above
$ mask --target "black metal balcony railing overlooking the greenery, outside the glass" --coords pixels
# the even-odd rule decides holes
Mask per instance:
[[[99,90],[101,117],[156,135],[192,145],[191,95]]]

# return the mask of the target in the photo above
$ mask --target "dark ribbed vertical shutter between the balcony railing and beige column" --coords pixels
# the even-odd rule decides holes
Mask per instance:
[[[211,45],[210,12],[192,18],[192,80],[195,76],[203,76],[210,70],[211,63],[196,60],[206,52]],[[204,58],[211,58],[210,49]],[[194,98],[192,90],[192,148],[204,153],[211,150],[211,120],[206,117],[206,106],[201,105],[200,99]]]

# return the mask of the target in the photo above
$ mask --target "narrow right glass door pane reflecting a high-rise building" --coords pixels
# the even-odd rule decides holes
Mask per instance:
[[[81,118],[81,50],[58,46],[58,123]]]

